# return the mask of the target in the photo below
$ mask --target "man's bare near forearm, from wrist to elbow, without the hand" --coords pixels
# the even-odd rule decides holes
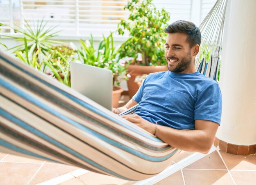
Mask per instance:
[[[213,139],[202,130],[177,130],[157,125],[155,136],[175,148],[189,152],[207,153],[213,144]]]

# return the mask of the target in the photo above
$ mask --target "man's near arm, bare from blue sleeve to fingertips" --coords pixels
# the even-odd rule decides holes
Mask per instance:
[[[122,117],[151,134],[155,134],[159,139],[175,148],[204,154],[211,149],[219,126],[218,123],[212,121],[195,120],[195,130],[177,130],[150,123],[137,114]]]

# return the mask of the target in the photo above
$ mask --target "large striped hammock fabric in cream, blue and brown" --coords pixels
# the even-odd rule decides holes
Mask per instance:
[[[0,152],[139,181],[179,150],[0,52]]]

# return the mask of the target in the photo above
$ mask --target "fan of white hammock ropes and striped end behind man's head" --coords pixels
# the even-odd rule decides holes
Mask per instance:
[[[202,33],[201,49],[195,59],[196,69],[205,76],[218,81],[220,49],[225,24],[227,0],[217,0],[199,28]],[[202,55],[204,52],[204,55]],[[207,53],[210,54],[207,61]],[[199,61],[200,57],[202,60]]]

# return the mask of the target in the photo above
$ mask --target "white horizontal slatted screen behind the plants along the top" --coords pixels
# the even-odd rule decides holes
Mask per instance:
[[[121,18],[127,19],[124,10],[128,0],[0,0],[1,32],[13,33],[9,26],[23,27],[27,20],[31,27],[44,19],[47,26],[56,26],[65,36],[102,36],[117,30]],[[191,20],[192,3],[200,1],[200,20],[207,15],[216,0],[153,0],[157,9],[170,13],[170,23]]]

